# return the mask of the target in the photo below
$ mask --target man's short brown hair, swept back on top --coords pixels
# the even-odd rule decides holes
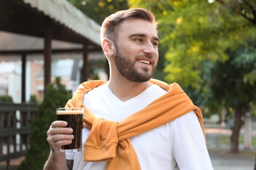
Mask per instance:
[[[108,38],[116,42],[118,39],[117,30],[119,25],[123,21],[129,19],[146,20],[153,24],[156,27],[156,30],[158,30],[158,22],[152,12],[140,8],[119,10],[118,12],[108,16],[102,23],[102,27],[100,29],[100,40],[102,41],[104,38]]]

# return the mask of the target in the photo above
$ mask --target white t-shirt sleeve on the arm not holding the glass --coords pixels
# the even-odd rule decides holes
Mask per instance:
[[[200,122],[194,111],[175,119],[171,143],[179,169],[213,169]]]

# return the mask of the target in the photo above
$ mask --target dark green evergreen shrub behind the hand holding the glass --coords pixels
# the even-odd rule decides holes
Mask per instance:
[[[26,160],[18,169],[43,169],[50,152],[46,132],[51,123],[56,120],[56,108],[64,107],[70,97],[72,96],[65,86],[60,84],[60,78],[56,78],[55,83],[47,85],[45,97],[39,105],[38,115],[31,125],[30,149]]]

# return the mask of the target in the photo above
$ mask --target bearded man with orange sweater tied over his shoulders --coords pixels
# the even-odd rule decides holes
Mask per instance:
[[[160,42],[154,15],[116,12],[104,20],[100,38],[110,79],[80,84],[66,104],[85,108],[85,146],[60,152],[72,142],[72,129],[53,122],[44,169],[213,169],[200,109],[178,84],[151,79]]]

